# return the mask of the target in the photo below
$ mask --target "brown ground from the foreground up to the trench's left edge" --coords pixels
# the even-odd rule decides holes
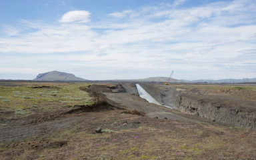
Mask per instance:
[[[5,124],[0,128],[1,159],[256,157],[255,131],[226,127],[147,103],[136,95],[116,93],[124,92],[120,87],[81,89],[95,97],[94,105],[1,121]],[[97,127],[110,133],[95,133]]]

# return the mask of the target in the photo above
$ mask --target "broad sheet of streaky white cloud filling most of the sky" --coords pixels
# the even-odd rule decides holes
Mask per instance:
[[[110,13],[110,17],[87,25],[23,20],[22,25],[33,28],[31,31],[24,33],[17,27],[17,31],[21,30],[17,37],[0,37],[0,53],[19,55],[1,56],[0,62],[3,69],[9,64],[15,69],[22,59],[25,69],[36,65],[40,71],[75,71],[85,74],[81,76],[85,79],[168,76],[169,70],[175,70],[178,79],[256,77],[251,69],[242,69],[243,75],[234,72],[252,62],[245,53],[255,53],[256,5],[252,2],[209,3],[183,9],[153,6]],[[185,1],[175,3],[177,6]],[[60,21],[85,22],[90,13],[81,16],[83,13],[70,11],[65,15]],[[41,61],[49,59],[53,60],[47,67],[41,65]],[[39,64],[32,65],[31,61]],[[220,73],[221,66],[225,67]],[[249,66],[255,68],[255,64]],[[120,70],[123,71],[117,74]]]

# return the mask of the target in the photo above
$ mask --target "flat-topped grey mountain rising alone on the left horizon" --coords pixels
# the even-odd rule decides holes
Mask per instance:
[[[47,73],[40,73],[33,80],[34,81],[87,81],[86,79],[75,77],[75,75],[71,73],[65,73],[60,71],[50,71]]]

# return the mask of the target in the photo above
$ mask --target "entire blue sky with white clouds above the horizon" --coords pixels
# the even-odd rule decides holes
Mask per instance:
[[[255,0],[0,0],[0,79],[256,77]]]

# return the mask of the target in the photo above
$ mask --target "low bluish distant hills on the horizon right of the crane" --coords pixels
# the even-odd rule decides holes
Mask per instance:
[[[193,81],[181,80],[189,83],[250,83],[256,82],[256,78],[253,79],[219,79],[219,80],[212,80],[212,79],[199,79]]]

